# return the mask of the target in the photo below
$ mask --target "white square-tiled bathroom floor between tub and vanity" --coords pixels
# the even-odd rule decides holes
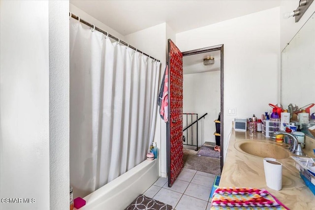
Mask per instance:
[[[145,193],[173,210],[210,210],[209,198],[216,175],[184,168],[172,187],[160,177]]]

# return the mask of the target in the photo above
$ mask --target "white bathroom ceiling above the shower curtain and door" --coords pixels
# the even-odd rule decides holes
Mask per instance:
[[[166,22],[175,33],[280,6],[280,0],[70,0],[127,35]]]

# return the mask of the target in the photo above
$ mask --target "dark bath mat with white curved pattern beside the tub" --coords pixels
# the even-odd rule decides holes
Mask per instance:
[[[154,200],[153,198],[140,195],[126,210],[172,210],[172,206]]]

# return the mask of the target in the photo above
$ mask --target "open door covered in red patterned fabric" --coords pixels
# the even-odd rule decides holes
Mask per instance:
[[[183,162],[183,55],[170,41],[169,112],[170,180],[172,185],[184,167]]]

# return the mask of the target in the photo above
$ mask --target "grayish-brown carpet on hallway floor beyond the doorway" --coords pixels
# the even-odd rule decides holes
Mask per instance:
[[[198,156],[198,151],[187,150],[184,151],[184,168],[202,171],[214,175],[221,174],[220,158]]]

